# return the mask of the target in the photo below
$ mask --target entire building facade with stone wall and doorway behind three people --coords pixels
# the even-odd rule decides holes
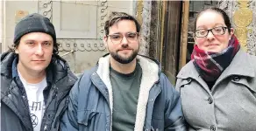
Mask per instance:
[[[158,59],[162,71],[175,76],[193,50],[193,21],[210,6],[224,9],[243,49],[256,55],[256,1],[0,1],[1,52],[12,45],[15,24],[34,12],[49,17],[60,44],[60,55],[75,73],[96,65],[107,52],[103,24],[110,11],[124,11],[139,19],[140,54]]]

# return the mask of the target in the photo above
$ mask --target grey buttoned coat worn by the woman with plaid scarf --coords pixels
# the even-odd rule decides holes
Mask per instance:
[[[211,90],[190,61],[176,90],[189,130],[256,131],[256,57],[238,51]]]

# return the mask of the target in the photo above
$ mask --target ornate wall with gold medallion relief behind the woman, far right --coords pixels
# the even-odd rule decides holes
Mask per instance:
[[[243,49],[252,55],[256,55],[256,1],[220,0],[218,5],[231,17],[235,35]]]

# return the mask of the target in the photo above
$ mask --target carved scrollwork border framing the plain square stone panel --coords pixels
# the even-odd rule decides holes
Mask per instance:
[[[104,20],[107,16],[107,0],[97,2],[97,38],[85,39],[85,38],[58,38],[57,42],[60,44],[60,52],[98,52],[106,51],[103,44],[103,32],[104,32]],[[53,16],[53,1],[43,0],[39,1],[39,13],[52,20]]]

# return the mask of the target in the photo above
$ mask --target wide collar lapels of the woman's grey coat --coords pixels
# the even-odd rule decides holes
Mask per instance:
[[[246,76],[251,78],[255,77],[254,66],[252,65],[252,62],[250,61],[248,55],[249,54],[245,53],[244,51],[242,51],[242,49],[240,49],[235,57],[232,59],[230,66],[228,66],[224,70],[224,72],[222,72],[216,83],[231,75]],[[196,79],[202,84],[205,83],[202,81],[203,79],[200,77],[200,74],[196,71],[193,62],[194,60],[189,61],[188,64],[181,69],[181,72],[178,73],[177,78],[191,78]]]

